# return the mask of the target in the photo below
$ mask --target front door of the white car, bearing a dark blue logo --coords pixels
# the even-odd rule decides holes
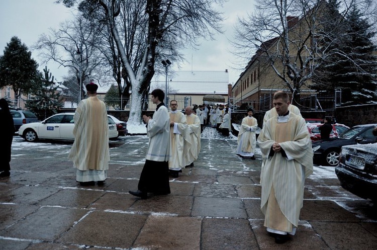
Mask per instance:
[[[60,126],[64,114],[54,115],[44,120],[38,128],[38,137],[43,139],[59,139]]]

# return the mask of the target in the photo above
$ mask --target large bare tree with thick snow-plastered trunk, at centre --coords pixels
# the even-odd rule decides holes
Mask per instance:
[[[77,4],[79,10],[88,18],[108,26],[118,49],[124,75],[131,85],[131,110],[128,121],[140,124],[142,98],[148,94],[155,67],[158,69],[162,66],[155,63],[163,56],[169,57],[169,60],[179,59],[178,49],[196,46],[199,37],[212,38],[213,32],[221,31],[220,23],[223,19],[214,5],[222,4],[224,0],[58,2],[67,7]],[[135,23],[136,17],[138,19]]]

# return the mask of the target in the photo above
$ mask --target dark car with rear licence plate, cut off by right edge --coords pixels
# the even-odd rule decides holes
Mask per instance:
[[[343,146],[335,174],[344,189],[377,202],[377,143]]]

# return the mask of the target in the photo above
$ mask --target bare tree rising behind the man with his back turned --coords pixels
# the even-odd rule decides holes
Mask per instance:
[[[83,87],[89,80],[99,80],[103,76],[103,57],[93,46],[97,42],[98,28],[82,16],[75,16],[73,20],[60,24],[59,29],[50,29],[50,34],[40,35],[33,49],[39,51],[43,63],[53,60],[74,72],[77,89],[80,89],[80,82]],[[84,94],[84,88],[81,88],[81,95]]]

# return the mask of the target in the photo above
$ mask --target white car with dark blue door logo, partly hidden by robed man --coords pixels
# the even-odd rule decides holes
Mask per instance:
[[[74,113],[61,113],[53,115],[41,122],[32,122],[20,127],[18,134],[26,141],[33,142],[38,139],[69,140],[73,141]],[[115,122],[108,116],[109,139],[118,137]]]

